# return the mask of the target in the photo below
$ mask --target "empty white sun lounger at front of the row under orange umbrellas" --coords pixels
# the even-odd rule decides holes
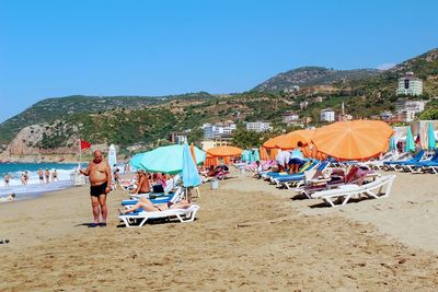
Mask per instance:
[[[311,195],[312,199],[322,199],[332,207],[335,207],[335,200],[341,200],[341,205],[346,205],[353,196],[366,195],[369,198],[388,197],[391,192],[392,183],[395,175],[378,177],[374,182],[358,186],[355,184],[343,185],[335,189],[321,190]],[[382,189],[385,188],[382,195]]]

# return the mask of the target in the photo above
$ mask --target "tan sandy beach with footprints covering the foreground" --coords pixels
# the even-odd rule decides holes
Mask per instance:
[[[433,291],[436,175],[397,174],[389,198],[327,208],[235,176],[200,188],[193,223],[88,227],[88,187],[0,205],[1,291]]]

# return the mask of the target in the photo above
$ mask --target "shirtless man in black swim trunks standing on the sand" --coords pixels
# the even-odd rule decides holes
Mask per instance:
[[[90,226],[95,227],[99,224],[106,226],[106,195],[111,191],[111,167],[103,160],[102,152],[96,150],[93,152],[94,159],[90,161],[89,167],[80,170],[83,175],[90,179],[91,207],[93,209],[94,223]],[[100,211],[99,211],[100,209]],[[102,214],[102,223],[99,223],[99,213]]]

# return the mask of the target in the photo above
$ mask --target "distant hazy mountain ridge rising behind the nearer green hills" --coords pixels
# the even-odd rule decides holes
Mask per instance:
[[[301,67],[279,73],[262,84],[254,91],[280,92],[292,89],[315,85],[331,85],[341,81],[360,80],[379,75],[381,71],[376,69],[333,70],[324,67]]]

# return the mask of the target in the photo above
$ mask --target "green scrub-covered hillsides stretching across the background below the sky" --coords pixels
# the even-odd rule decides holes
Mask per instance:
[[[281,114],[287,110],[310,117],[311,124],[318,125],[321,109],[332,107],[339,112],[342,103],[354,117],[368,118],[383,110],[394,110],[397,79],[406,71],[414,71],[416,77],[425,80],[425,94],[415,98],[429,100],[438,95],[438,49],[434,49],[383,72],[300,68],[256,87],[263,90],[239,94],[200,92],[160,97],[78,95],[47,98],[1,124],[0,141],[9,143],[22,128],[38,124],[47,129],[38,143],[39,149],[69,148],[78,138],[123,148],[132,144],[150,148],[169,139],[172,131],[184,131],[189,141],[199,141],[204,122],[233,120],[242,127],[243,121],[265,120],[279,132],[286,129]],[[328,83],[327,86],[314,86]],[[302,89],[291,93],[278,90],[290,84],[299,84]],[[307,106],[300,106],[302,102],[307,102]],[[424,116],[436,117],[436,104],[435,100],[429,103]],[[251,144],[257,139],[261,138],[251,136],[246,140]]]

